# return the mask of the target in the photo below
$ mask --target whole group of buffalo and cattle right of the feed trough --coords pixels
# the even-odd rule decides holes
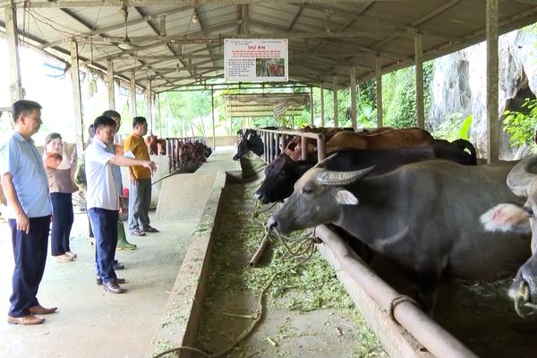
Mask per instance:
[[[394,261],[425,311],[443,276],[515,277],[508,294],[518,314],[537,307],[537,156],[478,165],[469,141],[418,128],[304,131],[325,134],[328,158],[317,163],[317,143],[307,140],[301,160],[300,136],[271,146],[282,153],[255,193],[263,203],[285,200],[268,219],[271,230],[337,228]],[[263,149],[247,130],[234,159]]]

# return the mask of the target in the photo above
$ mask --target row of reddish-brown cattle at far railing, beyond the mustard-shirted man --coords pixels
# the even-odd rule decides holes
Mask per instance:
[[[166,138],[155,135],[146,137],[149,154],[169,155],[170,166],[174,171],[193,172],[201,163],[207,161],[212,150],[200,141]],[[168,153],[168,151],[171,151]]]

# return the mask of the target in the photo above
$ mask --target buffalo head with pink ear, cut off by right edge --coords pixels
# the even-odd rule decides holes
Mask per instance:
[[[522,287],[529,290],[531,303],[537,303],[537,156],[521,160],[507,175],[507,186],[517,196],[526,198],[523,205],[499,204],[482,215],[488,231],[532,234],[532,257],[518,270],[509,295],[515,299]]]

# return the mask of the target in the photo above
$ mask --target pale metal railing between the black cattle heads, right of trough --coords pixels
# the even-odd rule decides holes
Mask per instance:
[[[299,131],[278,131],[278,130],[268,130],[268,129],[253,129],[258,133],[263,141],[263,160],[265,163],[270,163],[282,152],[282,149],[286,148],[286,145],[291,141],[295,136],[301,137],[301,150],[302,150],[302,159],[306,160],[308,158],[308,141],[306,139],[312,139],[317,141],[317,160],[321,161],[326,158],[326,143],[325,135],[323,133],[313,133],[313,132],[299,132]],[[244,132],[246,129],[243,130]],[[280,149],[280,143],[282,144]],[[275,148],[276,147],[276,148]]]

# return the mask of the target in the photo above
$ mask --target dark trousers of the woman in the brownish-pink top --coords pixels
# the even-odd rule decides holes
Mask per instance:
[[[72,194],[66,192],[51,192],[52,200],[52,234],[50,241],[50,251],[52,256],[63,255],[71,251],[69,247],[69,236],[71,235],[72,220]]]

